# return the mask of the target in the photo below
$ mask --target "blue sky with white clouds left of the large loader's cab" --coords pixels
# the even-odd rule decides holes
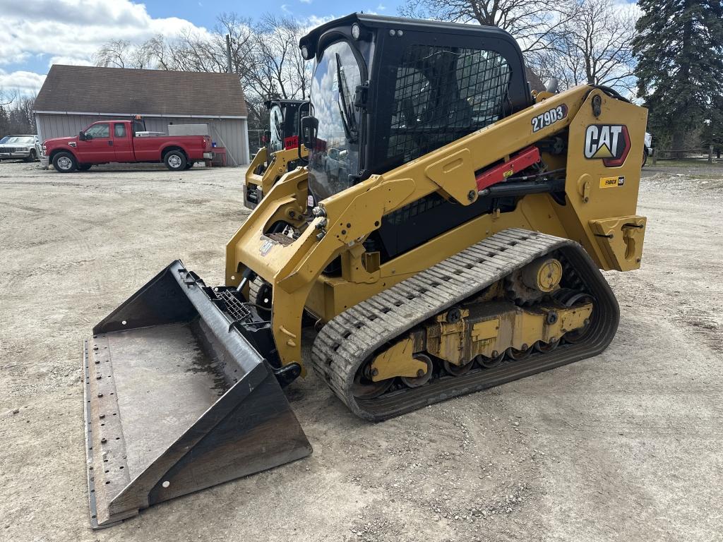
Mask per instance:
[[[403,0],[0,0],[0,91],[40,90],[51,64],[92,64],[104,42],[204,32],[221,12],[307,21],[355,11],[395,15]]]

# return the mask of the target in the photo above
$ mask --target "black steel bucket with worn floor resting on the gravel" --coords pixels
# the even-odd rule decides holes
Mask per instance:
[[[85,342],[93,528],[312,451],[273,370],[179,261]]]

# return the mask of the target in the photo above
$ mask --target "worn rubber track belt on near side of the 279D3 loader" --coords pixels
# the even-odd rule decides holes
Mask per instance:
[[[375,399],[359,400],[351,394],[357,369],[383,345],[552,251],[564,258],[576,280],[594,297],[584,343],[560,345],[522,361],[505,360],[495,368],[476,369],[460,377],[435,376],[422,387],[390,391]],[[515,228],[474,244],[338,314],[317,335],[312,366],[356,416],[380,421],[595,356],[615,336],[619,319],[615,296],[582,246],[569,239]]]

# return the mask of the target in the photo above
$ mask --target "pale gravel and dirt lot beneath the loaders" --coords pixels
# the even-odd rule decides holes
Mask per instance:
[[[0,165],[1,541],[722,539],[723,169],[660,167],[603,355],[376,425],[309,377],[311,457],[90,530],[82,340],[176,257],[221,283],[242,174]]]

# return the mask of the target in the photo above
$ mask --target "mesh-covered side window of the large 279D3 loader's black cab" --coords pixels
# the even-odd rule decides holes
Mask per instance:
[[[509,81],[494,51],[409,46],[397,69],[387,158],[414,160],[497,121]]]

